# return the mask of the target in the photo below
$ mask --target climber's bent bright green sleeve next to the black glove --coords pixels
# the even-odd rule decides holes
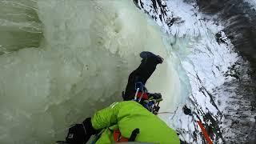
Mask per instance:
[[[111,106],[103,110],[99,110],[91,119],[91,123],[94,129],[104,129],[106,127],[114,126],[117,124],[119,109],[119,102],[114,102]]]

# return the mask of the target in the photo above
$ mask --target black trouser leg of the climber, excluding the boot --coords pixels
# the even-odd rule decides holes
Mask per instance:
[[[146,81],[154,73],[158,63],[159,62],[157,62],[155,58],[142,59],[140,66],[138,66],[138,68],[129,75],[125,94],[122,95],[124,101],[134,99],[136,93],[135,83],[142,82],[142,84],[145,86]]]

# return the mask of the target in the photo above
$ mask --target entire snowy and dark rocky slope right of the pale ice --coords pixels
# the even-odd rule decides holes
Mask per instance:
[[[193,53],[186,55],[190,64],[182,62],[192,87],[186,105],[192,109],[194,118],[182,114],[173,117],[181,123],[174,126],[182,141],[205,142],[195,122],[199,119],[216,143],[256,142],[256,13],[249,3],[238,0],[134,0],[134,3],[170,37],[194,40],[187,45],[193,47],[190,50]],[[210,44],[199,39],[211,39]],[[175,46],[177,43],[170,44],[181,48]]]

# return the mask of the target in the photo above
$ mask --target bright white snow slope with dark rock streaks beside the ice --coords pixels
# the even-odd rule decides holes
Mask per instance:
[[[155,21],[166,33],[170,34],[167,40],[172,49],[178,54],[182,68],[189,77],[191,92],[187,99],[187,106],[192,110],[202,110],[202,113],[210,113],[220,120],[218,107],[214,106],[214,100],[209,94],[224,82],[234,78],[224,75],[228,68],[238,60],[238,54],[234,52],[234,46],[222,31],[224,28],[214,22],[214,17],[206,16],[198,11],[196,3],[186,3],[181,0],[166,1],[166,17],[161,21],[161,14],[153,10],[150,1],[142,1],[143,9],[153,16],[158,16]],[[168,27],[166,19],[176,18],[176,22]],[[225,43],[218,43],[215,34],[221,34]],[[194,105],[192,105],[194,103]],[[192,118],[182,113],[182,103],[178,106],[176,114],[160,114],[170,126],[175,127],[181,133],[180,138],[190,143],[202,143],[198,134],[198,141],[194,142],[193,132],[201,131],[194,120],[203,121],[202,114],[198,118]],[[195,111],[196,112],[196,111]],[[169,116],[168,116],[169,115]],[[211,123],[206,122],[206,123]],[[222,139],[215,139],[222,142]]]

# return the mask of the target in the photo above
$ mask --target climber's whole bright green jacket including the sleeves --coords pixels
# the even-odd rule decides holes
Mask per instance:
[[[135,139],[136,142],[180,143],[174,130],[158,116],[134,101],[114,102],[111,106],[94,114],[91,122],[94,129],[105,129],[96,144],[113,143],[112,130],[119,129],[122,137],[130,138],[132,131],[136,128],[140,130]]]

